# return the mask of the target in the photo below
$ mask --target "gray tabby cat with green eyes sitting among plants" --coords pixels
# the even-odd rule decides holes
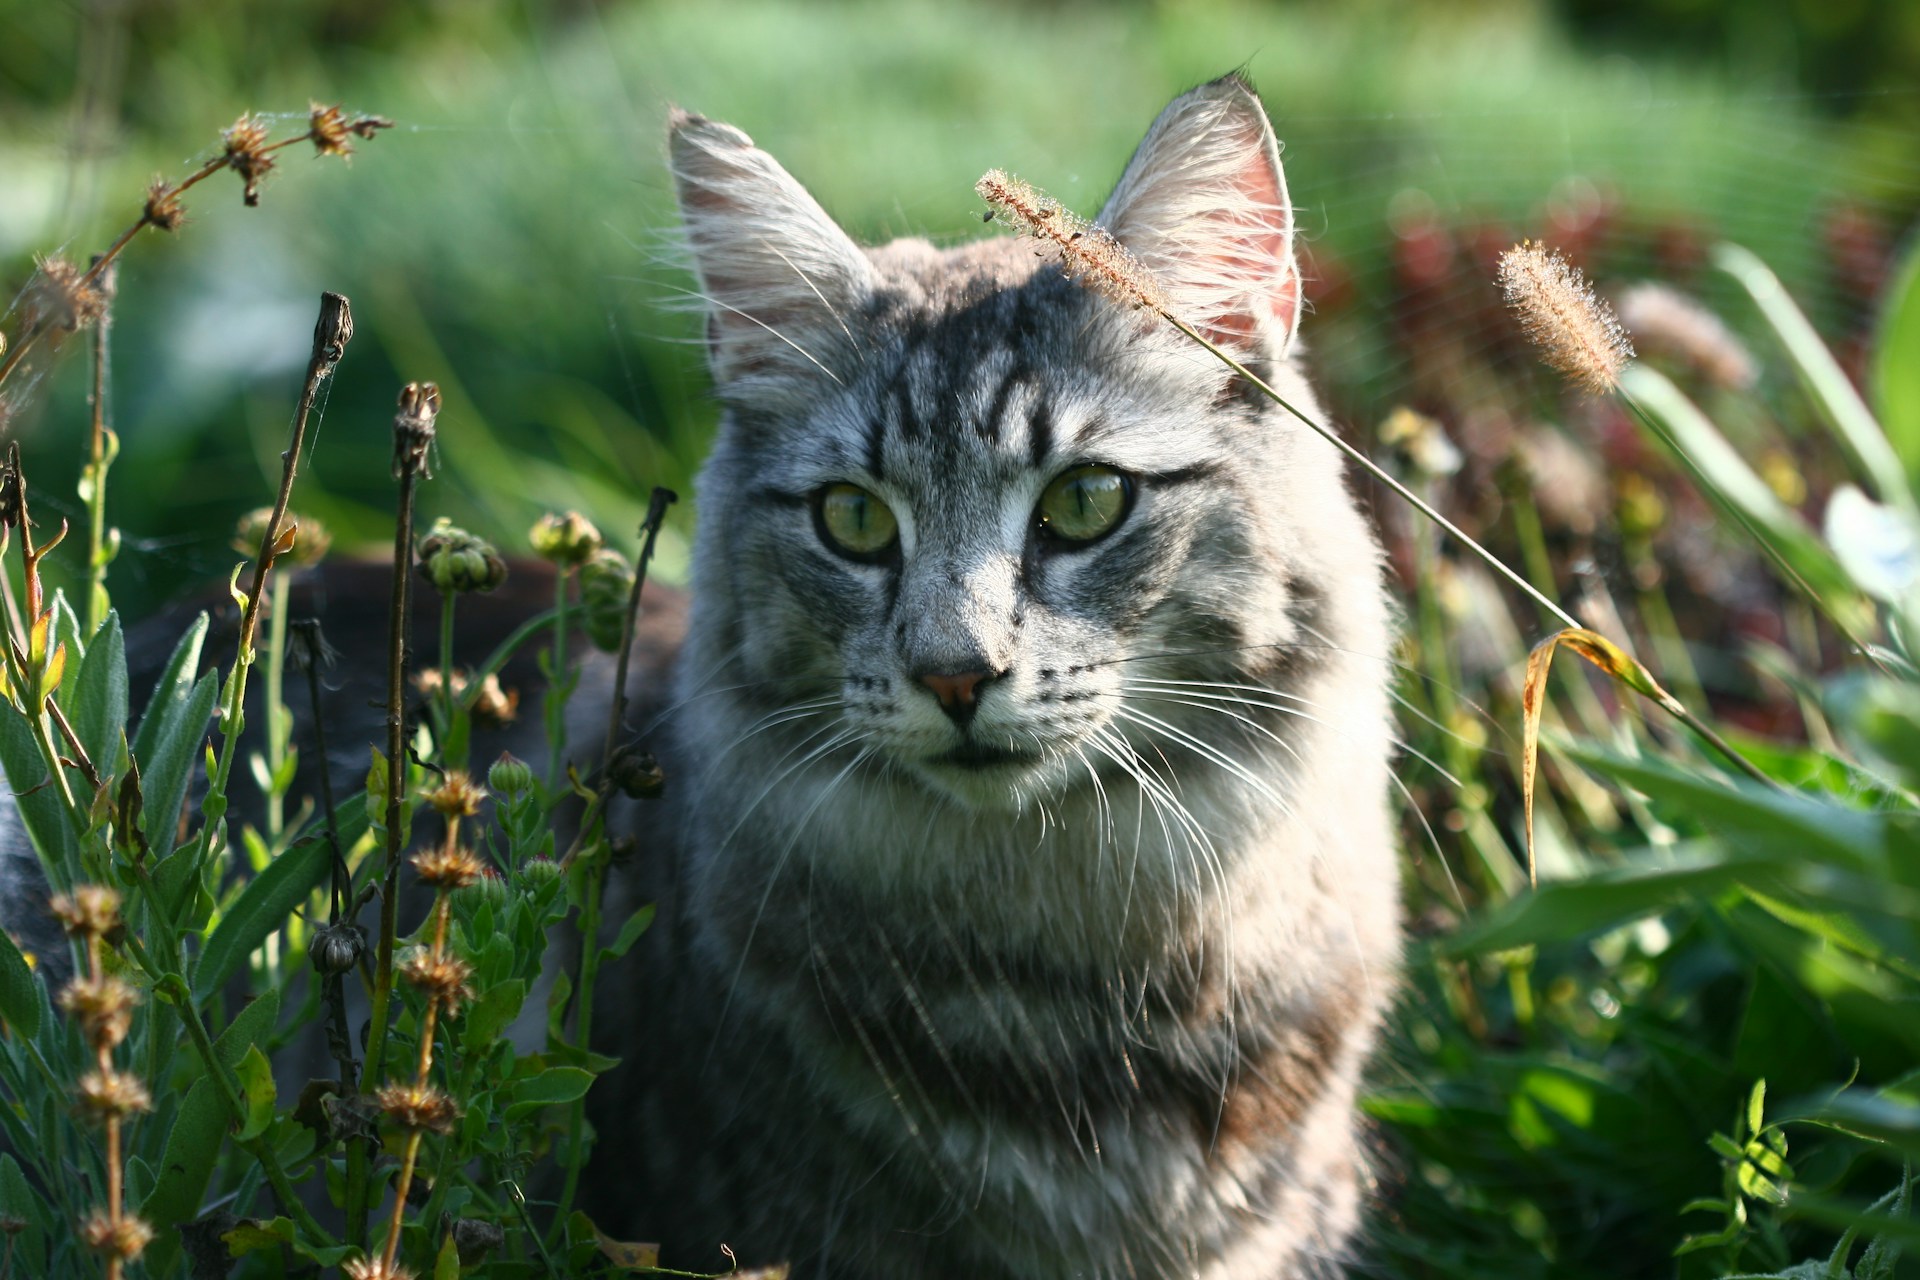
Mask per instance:
[[[726,418],[595,1213],[801,1278],[1338,1270],[1398,958],[1340,459],[1023,242],[860,249],[693,115],[672,171]],[[1311,403],[1242,81],[1100,223]]]

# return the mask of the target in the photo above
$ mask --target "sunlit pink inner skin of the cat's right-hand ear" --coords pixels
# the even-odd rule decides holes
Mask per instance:
[[[1269,163],[1261,142],[1258,132],[1248,140],[1248,163],[1233,178],[1246,203],[1217,215],[1227,226],[1221,228],[1212,265],[1219,278],[1248,282],[1246,294],[1208,317],[1202,326],[1223,347],[1248,349],[1265,326],[1273,328],[1275,342],[1284,344],[1300,319],[1294,211],[1286,201],[1281,171]]]

